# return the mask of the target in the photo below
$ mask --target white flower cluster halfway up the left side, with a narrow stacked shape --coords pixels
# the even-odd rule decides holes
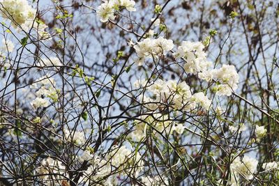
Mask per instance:
[[[31,102],[31,106],[34,109],[47,107],[50,102],[46,98],[50,98],[53,102],[57,102],[59,91],[56,90],[55,84],[54,79],[46,75],[37,79],[36,83],[30,86],[30,88],[38,90],[36,91],[37,98]]]

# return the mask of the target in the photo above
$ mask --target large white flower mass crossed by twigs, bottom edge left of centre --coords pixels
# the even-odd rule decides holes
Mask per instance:
[[[117,185],[116,175],[139,176],[144,162],[139,152],[135,153],[126,146],[112,146],[112,150],[104,158],[88,150],[84,151],[82,160],[88,161],[90,166],[80,178],[81,182],[103,183],[104,185]],[[114,172],[116,170],[116,172]]]

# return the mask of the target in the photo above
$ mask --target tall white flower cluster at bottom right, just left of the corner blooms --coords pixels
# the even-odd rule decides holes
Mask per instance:
[[[254,178],[253,173],[257,171],[258,161],[252,157],[244,155],[244,157],[236,157],[232,164],[230,165],[231,169],[231,185],[239,185],[239,176],[242,176],[246,180],[251,180]]]

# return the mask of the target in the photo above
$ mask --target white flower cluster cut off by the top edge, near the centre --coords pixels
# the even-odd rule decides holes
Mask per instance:
[[[114,20],[114,13],[118,10],[126,8],[128,11],[135,11],[135,1],[133,0],[110,0],[104,1],[98,6],[97,15],[100,17],[101,22]]]

